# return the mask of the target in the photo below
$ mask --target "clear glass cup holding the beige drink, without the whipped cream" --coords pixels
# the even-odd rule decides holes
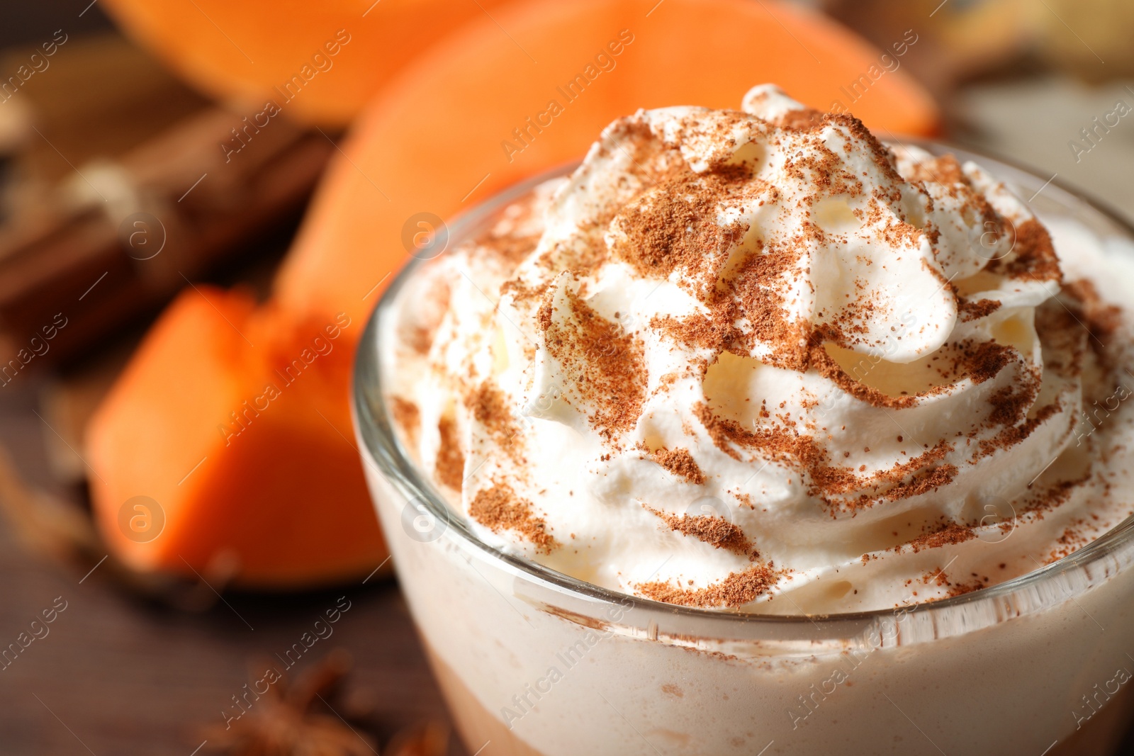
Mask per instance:
[[[919,144],[1038,193],[1041,220],[1134,239],[1116,214],[1044,178]],[[547,178],[463,215],[449,244]],[[412,261],[371,317],[353,408],[406,600],[469,753],[1114,751],[1134,671],[1134,518],[1032,574],[892,611],[746,615],[583,583],[479,541],[398,439],[383,396],[397,365],[376,345],[405,281],[428,264]]]

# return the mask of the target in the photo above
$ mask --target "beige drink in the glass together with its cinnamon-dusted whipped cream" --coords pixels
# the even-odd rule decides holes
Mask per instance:
[[[1067,747],[1134,670],[1126,536],[1073,555],[1134,511],[1134,265],[1072,214],[761,86],[404,275],[361,433],[468,746]]]

